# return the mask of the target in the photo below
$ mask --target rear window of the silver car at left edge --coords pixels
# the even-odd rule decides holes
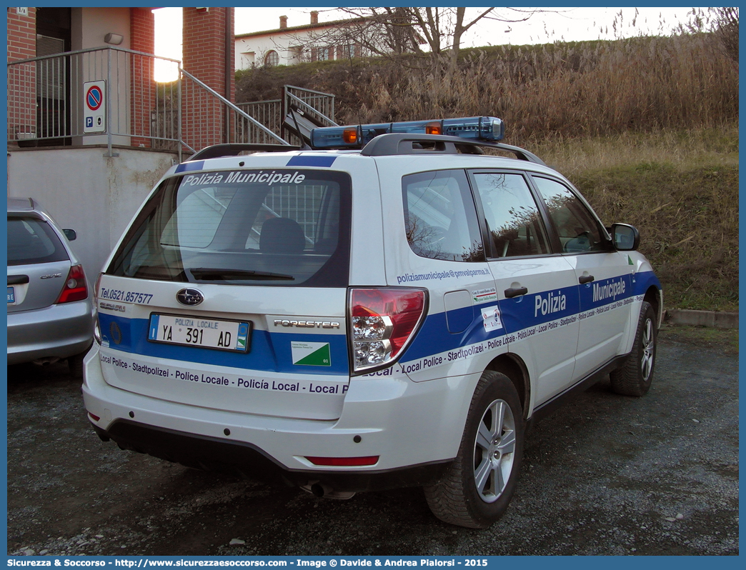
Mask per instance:
[[[47,222],[31,217],[8,216],[7,264],[51,263],[69,259],[60,238]]]

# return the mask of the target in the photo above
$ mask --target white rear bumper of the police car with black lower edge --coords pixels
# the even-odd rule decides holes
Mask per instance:
[[[457,455],[479,375],[419,383],[353,378],[336,420],[236,413],[129,392],[105,382],[96,346],[86,357],[84,378],[90,422],[123,448],[203,469],[362,491],[436,480]],[[378,460],[329,467],[307,457]]]

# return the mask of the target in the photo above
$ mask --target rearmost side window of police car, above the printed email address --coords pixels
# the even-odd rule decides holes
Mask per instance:
[[[436,260],[485,259],[465,172],[405,176],[402,190],[407,242],[412,251]]]

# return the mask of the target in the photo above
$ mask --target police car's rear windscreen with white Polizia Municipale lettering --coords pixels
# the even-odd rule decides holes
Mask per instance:
[[[350,179],[343,172],[234,170],[163,181],[107,273],[282,286],[346,286]]]

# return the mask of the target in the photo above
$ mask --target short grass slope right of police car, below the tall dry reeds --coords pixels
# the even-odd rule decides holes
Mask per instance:
[[[583,192],[604,224],[636,226],[666,307],[738,310],[736,125],[555,140],[530,149]]]

